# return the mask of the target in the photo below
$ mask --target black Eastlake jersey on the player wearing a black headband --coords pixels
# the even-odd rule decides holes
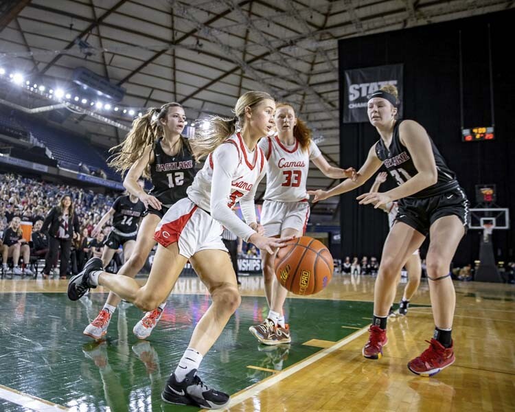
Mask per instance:
[[[376,143],[376,155],[385,165],[389,174],[396,180],[398,185],[411,179],[415,174],[418,173],[411,154],[407,147],[400,142],[399,137],[399,126],[402,120],[398,120],[393,126],[393,136],[391,138],[391,144],[389,148],[386,148],[382,139]],[[440,152],[436,148],[431,137],[431,147],[433,148],[433,156],[435,157],[436,170],[438,173],[437,182],[434,185],[426,187],[420,192],[412,194],[410,198],[428,198],[431,196],[438,196],[444,194],[450,190],[459,187],[459,183],[456,180],[456,174],[450,170],[444,160],[444,157],[440,155]]]

